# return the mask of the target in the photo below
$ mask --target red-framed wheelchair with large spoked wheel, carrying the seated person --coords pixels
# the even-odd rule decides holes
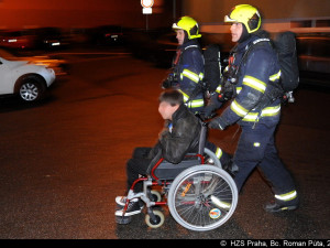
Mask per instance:
[[[178,164],[161,158],[150,166],[147,176],[138,179],[131,186],[123,216],[116,216],[118,224],[129,224],[132,216],[124,216],[131,200],[145,204],[145,223],[158,228],[165,216],[158,206],[168,206],[173,218],[183,227],[206,231],[223,225],[234,213],[238,188],[232,176],[221,169],[217,155],[205,148],[206,123],[201,122],[198,153],[188,153]],[[134,193],[134,185],[143,182],[143,192]],[[160,188],[155,190],[155,188]]]

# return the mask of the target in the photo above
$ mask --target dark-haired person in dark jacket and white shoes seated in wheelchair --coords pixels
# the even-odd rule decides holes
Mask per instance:
[[[187,153],[198,153],[201,130],[200,120],[184,105],[183,95],[174,89],[162,93],[158,111],[165,120],[165,128],[160,133],[158,142],[154,148],[136,148],[133,152],[133,158],[128,161],[128,191],[133,182],[139,179],[139,175],[146,174],[152,161],[158,161],[161,158],[164,158],[166,161],[177,164],[183,161]],[[206,147],[218,153],[222,164],[228,163],[230,160],[230,157],[213,143],[207,141]],[[142,182],[135,184],[134,193],[142,192]],[[122,206],[122,209],[116,212],[116,216],[122,216],[127,197],[118,196],[116,202]],[[133,198],[124,216],[139,214],[142,208],[142,201]]]

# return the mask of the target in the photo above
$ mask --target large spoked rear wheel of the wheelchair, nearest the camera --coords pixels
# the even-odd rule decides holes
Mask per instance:
[[[238,205],[232,177],[213,165],[183,171],[172,183],[167,205],[174,219],[190,230],[211,230],[224,224]]]

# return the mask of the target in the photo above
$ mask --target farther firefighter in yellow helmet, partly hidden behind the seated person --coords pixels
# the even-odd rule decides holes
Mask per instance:
[[[190,17],[183,17],[173,24],[178,48],[173,61],[173,72],[163,82],[163,88],[177,88],[184,96],[185,105],[194,114],[204,109],[204,57],[198,43],[198,23]]]

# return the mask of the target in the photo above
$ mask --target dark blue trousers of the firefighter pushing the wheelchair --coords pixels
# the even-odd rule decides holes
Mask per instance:
[[[280,161],[274,141],[276,126],[256,123],[252,127],[242,127],[242,133],[234,153],[233,162],[239,166],[234,177],[240,191],[254,168],[258,166],[270,182],[276,195],[286,195],[295,192],[295,183],[283,162]]]

